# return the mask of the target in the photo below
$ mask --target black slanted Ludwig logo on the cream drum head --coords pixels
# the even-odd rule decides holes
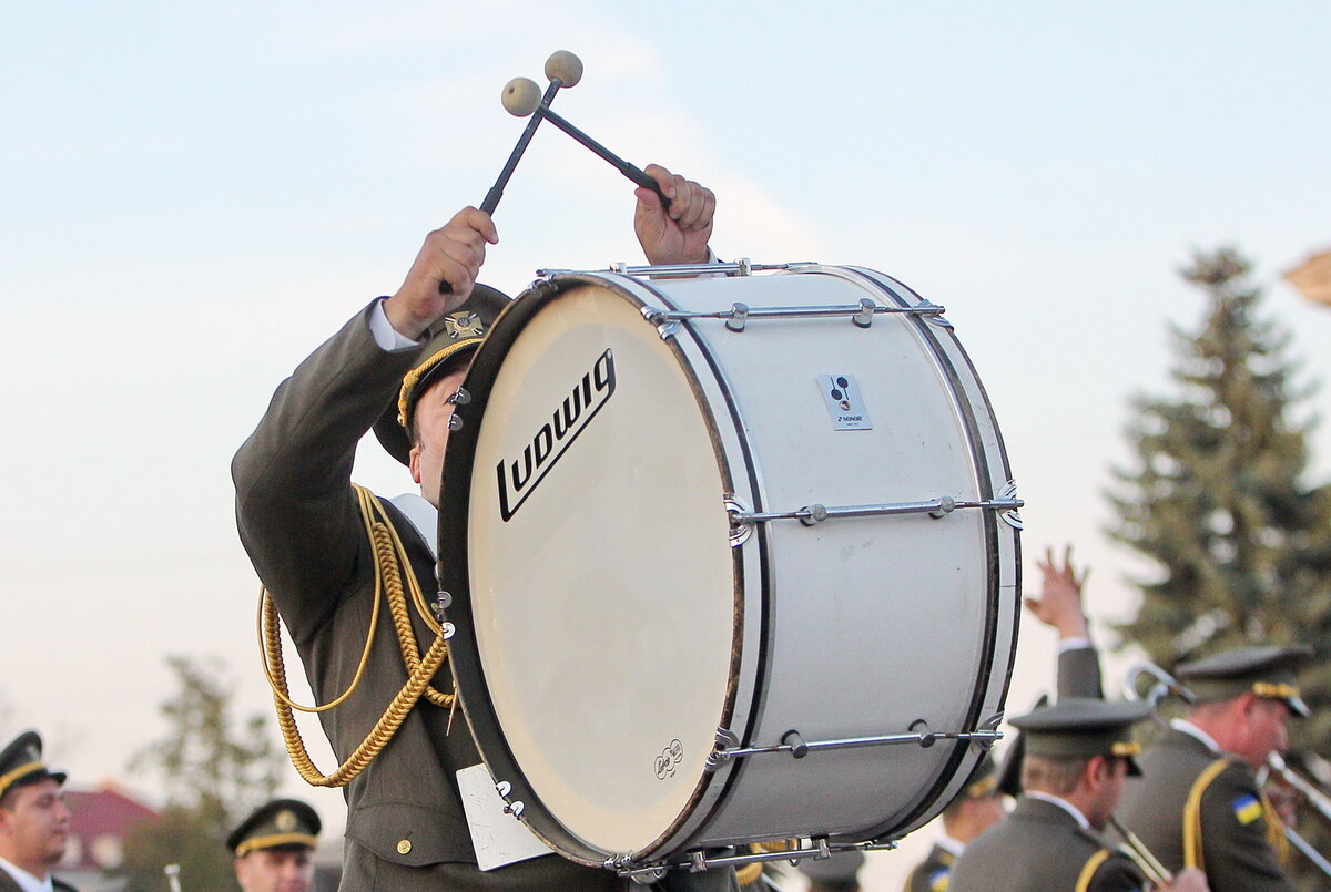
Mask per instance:
[[[607,350],[583,372],[563,403],[554,407],[550,420],[536,428],[531,441],[522,448],[522,456],[499,460],[495,477],[499,485],[499,516],[504,522],[518,513],[614,392],[615,355]]]

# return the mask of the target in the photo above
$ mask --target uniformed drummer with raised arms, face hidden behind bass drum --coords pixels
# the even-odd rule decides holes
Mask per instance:
[[[656,165],[647,173],[671,199],[667,210],[654,190],[635,191],[634,230],[648,262],[707,262],[712,193]],[[474,207],[430,233],[397,292],[357,312],[278,387],[232,465],[241,540],[295,642],[315,698],[329,702],[359,677],[353,695],[321,715],[342,760],[371,734],[409,674],[390,617],[379,615],[371,626],[377,581],[387,570],[377,564],[366,534],[363,512],[373,513],[374,504],[362,509],[351,487],[355,445],[375,427],[419,484],[419,496],[378,504],[410,556],[411,566],[398,572],[414,573],[429,597],[437,589],[433,553],[453,413],[449,397],[507,303],[475,283],[486,247],[498,242],[494,221]],[[443,292],[442,283],[449,286]],[[415,646],[425,653],[434,633],[415,612],[411,621]],[[371,629],[369,663],[357,673]],[[451,691],[447,674],[441,669],[433,687]],[[628,888],[610,871],[550,853],[532,857],[531,840],[520,852],[486,848],[487,860],[500,865],[483,872],[476,845],[486,835],[470,831],[455,779],[479,762],[463,722],[450,732],[447,707],[417,701],[390,742],[345,787],[342,889]],[[516,857],[524,860],[502,863]],[[662,888],[731,889],[735,875],[672,872]]]

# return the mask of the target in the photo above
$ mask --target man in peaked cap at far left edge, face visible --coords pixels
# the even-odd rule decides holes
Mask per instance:
[[[41,760],[41,735],[24,731],[0,751],[0,892],[73,892],[51,876],[69,841],[73,815],[64,771]]]

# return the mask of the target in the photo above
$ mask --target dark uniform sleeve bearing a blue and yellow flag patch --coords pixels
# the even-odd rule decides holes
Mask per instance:
[[[1294,892],[1267,839],[1256,783],[1234,764],[1202,795],[1202,860],[1211,892]]]

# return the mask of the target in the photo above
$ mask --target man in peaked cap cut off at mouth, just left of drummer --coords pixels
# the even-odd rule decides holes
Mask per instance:
[[[226,837],[242,892],[310,892],[319,816],[298,799],[274,799]]]

